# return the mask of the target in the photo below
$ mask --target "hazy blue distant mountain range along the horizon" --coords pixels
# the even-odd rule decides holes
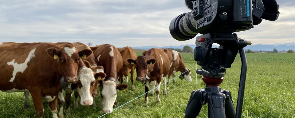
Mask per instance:
[[[139,46],[139,47],[132,47],[133,49],[144,49],[144,50],[148,50],[151,48],[179,48],[179,49],[183,49],[185,45],[171,45],[171,46],[163,46],[163,47],[158,47],[158,46]],[[188,45],[190,46],[192,49],[195,49],[196,45],[192,44],[192,45]],[[218,45],[213,45],[213,47],[218,47]],[[262,45],[262,44],[258,44],[258,45],[248,45],[245,47],[246,49],[251,49],[251,50],[265,50],[265,51],[273,51],[273,49],[277,49],[278,51],[288,51],[289,49],[293,49],[295,50],[295,43],[284,43],[284,44],[280,44],[280,43],[276,43],[276,44],[267,44],[267,45]]]

